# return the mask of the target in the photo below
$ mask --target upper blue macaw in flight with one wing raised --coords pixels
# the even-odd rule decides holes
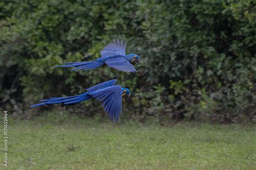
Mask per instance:
[[[126,43],[124,43],[123,40],[113,40],[113,42],[107,44],[100,52],[100,55],[102,56],[101,58],[84,62],[64,62],[65,65],[54,67],[75,67],[72,70],[89,70],[105,64],[109,67],[118,69],[123,72],[137,72],[133,65],[136,65],[139,62],[139,55],[126,55],[125,47]]]

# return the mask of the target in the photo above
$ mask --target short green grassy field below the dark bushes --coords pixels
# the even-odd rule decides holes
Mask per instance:
[[[34,119],[9,123],[11,169],[256,167],[255,125],[183,122],[159,126],[131,122],[113,124],[81,118]]]

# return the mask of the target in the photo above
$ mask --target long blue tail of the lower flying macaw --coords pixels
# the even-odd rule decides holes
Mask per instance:
[[[39,107],[41,105],[46,105],[46,104],[57,104],[57,103],[75,104],[75,103],[89,100],[90,98],[91,96],[88,95],[87,93],[77,95],[77,96],[69,96],[69,97],[51,97],[50,99],[40,100],[43,103],[31,105],[30,108],[35,108],[35,107]]]

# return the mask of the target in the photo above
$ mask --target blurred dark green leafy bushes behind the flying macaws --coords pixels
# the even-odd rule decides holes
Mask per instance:
[[[49,97],[76,95],[118,79],[130,88],[122,119],[256,121],[256,2],[0,2],[1,105],[15,118],[55,111],[103,116],[99,102],[36,110]],[[138,73],[100,67],[53,68],[88,61],[113,39],[140,56]]]

